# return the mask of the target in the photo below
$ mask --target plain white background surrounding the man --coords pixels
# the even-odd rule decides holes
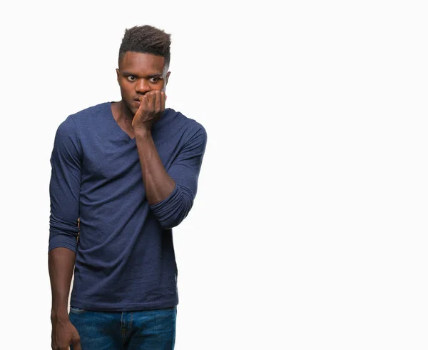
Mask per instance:
[[[1,5],[1,349],[50,349],[54,134],[120,99],[141,24],[172,34],[167,106],[208,132],[175,349],[428,349],[423,4]]]

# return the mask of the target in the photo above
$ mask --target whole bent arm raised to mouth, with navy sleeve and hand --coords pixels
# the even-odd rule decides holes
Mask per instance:
[[[195,129],[167,172],[151,136],[153,121],[164,110],[165,94],[151,91],[146,95],[133,118],[138,156],[151,210],[163,228],[171,229],[185,219],[193,206],[207,134],[203,126]]]

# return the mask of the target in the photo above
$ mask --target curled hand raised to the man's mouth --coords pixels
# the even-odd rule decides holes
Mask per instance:
[[[134,131],[151,130],[153,123],[158,121],[165,111],[165,92],[160,90],[149,91],[140,97],[140,106],[133,117],[132,127]]]

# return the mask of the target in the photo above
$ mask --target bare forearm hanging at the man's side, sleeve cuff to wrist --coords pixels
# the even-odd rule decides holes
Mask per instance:
[[[51,278],[51,319],[68,318],[68,295],[76,254],[67,248],[49,251],[49,276]]]

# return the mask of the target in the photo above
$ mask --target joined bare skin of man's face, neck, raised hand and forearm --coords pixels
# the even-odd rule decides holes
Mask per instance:
[[[112,104],[114,119],[136,139],[148,204],[166,199],[175,188],[159,158],[151,129],[165,110],[165,59],[153,54],[127,52],[116,69],[122,100]]]

